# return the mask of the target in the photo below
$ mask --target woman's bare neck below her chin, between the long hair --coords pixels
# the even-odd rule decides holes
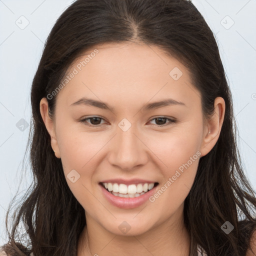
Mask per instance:
[[[188,256],[190,236],[182,212],[183,205],[171,217],[138,235],[111,233],[86,214],[77,256]]]

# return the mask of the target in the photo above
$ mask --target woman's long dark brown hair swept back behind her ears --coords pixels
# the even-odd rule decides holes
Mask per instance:
[[[77,240],[86,224],[84,209],[71,193],[61,160],[52,151],[39,102],[86,49],[104,42],[135,40],[161,47],[190,70],[205,116],[211,115],[216,97],[224,99],[219,138],[199,160],[183,214],[191,237],[190,255],[197,255],[199,244],[208,256],[245,256],[256,224],[256,196],[241,167],[231,93],[214,34],[190,0],[76,0],[57,19],[31,87],[29,141],[34,181],[16,207],[6,253],[76,255]],[[52,114],[55,99],[48,99]],[[21,220],[28,226],[27,239],[18,237],[16,231]],[[229,234],[220,228],[225,221],[234,227]]]

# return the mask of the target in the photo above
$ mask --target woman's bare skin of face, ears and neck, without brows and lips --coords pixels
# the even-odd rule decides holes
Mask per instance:
[[[214,114],[204,120],[200,93],[177,59],[142,43],[104,43],[86,53],[94,48],[99,50],[95,57],[58,92],[53,119],[48,116],[46,98],[40,101],[52,149],[61,158],[67,184],[85,210],[87,226],[80,235],[77,255],[187,256],[190,237],[184,228],[183,204],[199,157],[154,202],[132,209],[109,203],[98,182],[142,178],[155,180],[161,187],[197,151],[203,156],[212,149],[223,122],[224,100],[217,97]],[[183,73],[178,80],[169,75],[174,67]],[[114,110],[70,106],[82,96],[106,102]],[[185,105],[142,108],[165,98]],[[96,120],[100,126],[86,125],[93,124],[91,119],[79,122],[94,115],[103,118]],[[154,119],[159,116],[177,121]],[[127,131],[118,126],[123,118],[131,123]],[[74,183],[67,178],[72,169],[80,175]],[[118,228],[122,221],[131,227],[126,234]]]

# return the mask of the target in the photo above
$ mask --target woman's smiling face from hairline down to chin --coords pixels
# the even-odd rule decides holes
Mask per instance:
[[[130,228],[129,235],[178,220],[199,158],[221,125],[221,118],[203,121],[188,70],[157,46],[105,43],[78,58],[69,78],[56,95],[54,120],[45,98],[40,109],[86,220],[115,234]],[[104,181],[109,190],[139,196],[113,195]],[[143,188],[151,189],[140,195]]]

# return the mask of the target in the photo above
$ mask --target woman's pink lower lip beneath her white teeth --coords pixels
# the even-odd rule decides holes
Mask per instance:
[[[156,186],[154,186],[152,189],[147,191],[146,193],[139,195],[137,197],[120,197],[120,196],[115,196],[112,193],[108,192],[102,185],[99,184],[101,187],[101,190],[106,197],[106,199],[112,203],[114,206],[119,207],[119,208],[124,208],[124,209],[130,209],[130,208],[135,208],[143,204],[148,200],[148,198],[155,192]]]

